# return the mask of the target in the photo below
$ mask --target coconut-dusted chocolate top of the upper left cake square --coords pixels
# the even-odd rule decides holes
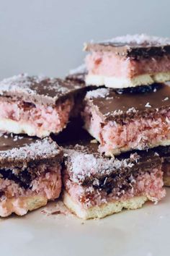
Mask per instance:
[[[76,81],[19,74],[0,82],[0,95],[30,103],[53,105],[82,88],[84,84]]]

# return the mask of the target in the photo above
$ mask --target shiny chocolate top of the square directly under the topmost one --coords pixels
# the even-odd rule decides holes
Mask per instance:
[[[86,93],[85,101],[103,121],[121,121],[170,109],[170,86],[151,85],[149,88],[112,90],[101,88]],[[167,119],[169,122],[169,119]]]

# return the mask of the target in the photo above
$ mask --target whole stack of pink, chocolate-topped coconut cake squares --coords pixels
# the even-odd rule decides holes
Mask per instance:
[[[86,43],[64,79],[0,82],[0,216],[61,197],[79,218],[157,203],[170,185],[170,39]]]

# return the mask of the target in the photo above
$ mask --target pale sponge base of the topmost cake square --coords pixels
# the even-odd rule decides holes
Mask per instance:
[[[98,74],[87,74],[86,85],[105,85],[109,88],[129,88],[140,85],[151,85],[154,82],[166,82],[170,80],[170,72],[157,74],[140,74],[132,79],[122,77],[105,77]]]

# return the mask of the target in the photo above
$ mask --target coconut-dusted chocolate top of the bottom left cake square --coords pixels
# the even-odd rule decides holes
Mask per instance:
[[[1,135],[0,168],[25,166],[33,161],[61,161],[63,152],[50,138],[38,140],[25,135]]]

